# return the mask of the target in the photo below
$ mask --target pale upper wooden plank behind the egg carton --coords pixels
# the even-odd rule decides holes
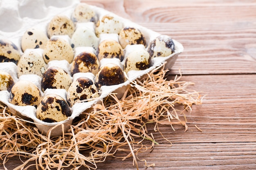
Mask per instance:
[[[251,1],[234,3],[228,8],[227,2],[209,4],[196,1],[199,4],[185,6],[183,1],[124,1],[124,4],[121,1],[116,3],[115,0],[85,2],[105,7],[181,42],[184,52],[172,68],[175,74],[180,68],[183,74],[256,73],[256,4]],[[113,6],[110,7],[109,4]],[[151,16],[146,13],[147,10],[156,14]],[[124,11],[131,17],[127,17]],[[182,18],[181,21],[168,19],[173,15]],[[191,20],[185,19],[189,17]],[[198,18],[204,20],[199,21]]]

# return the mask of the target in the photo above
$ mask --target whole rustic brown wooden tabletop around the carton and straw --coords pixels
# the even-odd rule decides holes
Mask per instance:
[[[159,145],[139,154],[139,170],[256,169],[255,0],[83,0],[162,34],[184,46],[171,70],[182,71],[203,104],[187,115],[189,129],[160,126]],[[202,133],[195,128],[197,125]],[[126,153],[127,154],[127,153]],[[118,156],[126,154],[118,153]],[[18,158],[8,163],[9,170]],[[108,157],[98,170],[135,170],[132,158]],[[1,165],[0,165],[1,168]]]

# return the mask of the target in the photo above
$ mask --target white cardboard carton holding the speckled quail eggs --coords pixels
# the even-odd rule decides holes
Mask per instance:
[[[43,29],[44,33],[47,35],[47,25],[49,24],[50,20],[56,15],[65,15],[69,18],[72,18],[72,13],[76,5],[81,3],[79,0],[2,0],[0,3],[0,40],[7,39],[13,42],[17,47],[20,55],[23,54],[21,40],[22,35],[24,35],[25,31],[30,28],[45,28]],[[147,29],[139,24],[131,22],[125,18],[121,18],[118,15],[107,11],[105,9],[92,6],[90,7],[96,13],[96,17],[100,20],[104,15],[111,15],[117,18],[123,27],[135,27],[144,34],[146,40],[146,47],[141,44],[137,45],[127,45],[124,49],[124,60],[121,62],[119,59],[104,59],[100,61],[100,65],[104,65],[106,63],[115,63],[118,64],[121,68],[124,68],[125,59],[129,53],[135,51],[137,49],[144,49],[147,50],[149,47],[149,43],[155,40],[160,34]],[[3,24],[5,23],[5,24]],[[7,23],[7,24],[6,24]],[[94,22],[84,22],[84,23],[76,23],[76,29],[87,27],[91,31],[95,33],[95,23]],[[119,42],[118,34],[113,33],[104,33],[99,36],[99,42],[102,42],[106,39],[113,39]],[[65,39],[70,45],[71,39],[68,35],[56,35],[56,37],[61,37]],[[145,70],[141,71],[129,71],[127,75],[127,79],[124,83],[111,85],[111,86],[101,86],[99,92],[100,96],[95,98],[94,100],[88,102],[81,102],[76,103],[72,106],[71,112],[72,115],[65,119],[64,121],[54,122],[54,123],[47,123],[45,121],[41,121],[36,117],[36,108],[34,106],[17,106],[9,103],[10,93],[9,91],[0,91],[0,102],[8,106],[9,110],[12,113],[15,113],[21,116],[24,119],[32,119],[35,123],[37,128],[43,132],[43,134],[47,134],[49,129],[55,128],[52,131],[52,136],[61,135],[64,131],[67,131],[72,124],[72,121],[75,117],[79,116],[85,110],[90,109],[94,104],[101,101],[103,98],[107,97],[110,93],[116,93],[118,98],[121,98],[124,95],[124,91],[126,87],[130,84],[131,81],[145,75],[146,73],[152,71],[157,66],[162,65],[166,62],[165,68],[171,69],[173,64],[175,63],[178,55],[182,53],[183,46],[176,40],[173,40],[175,44],[175,51],[171,55],[165,57],[155,57],[151,60],[151,66]],[[36,51],[43,57],[43,50],[42,49],[29,49],[30,51]],[[161,50],[161,48],[160,48]],[[92,53],[96,53],[95,47],[92,46],[87,47],[76,47],[74,48],[74,58],[81,52],[81,51],[91,51]],[[71,74],[70,67],[71,64],[66,60],[54,60],[47,63],[47,68],[51,66],[58,66],[63,68],[67,73],[70,74],[72,77],[72,81],[77,79],[78,77],[88,77],[95,82],[95,75],[92,73],[76,73],[74,75]],[[0,71],[6,71],[11,75],[14,82],[18,82],[20,80],[27,80],[33,82],[40,90],[41,90],[41,77],[38,75],[17,75],[17,65],[13,62],[3,62],[0,63]],[[47,89],[44,92],[41,91],[44,95],[47,94],[57,94],[64,99],[67,99],[67,91],[65,89]],[[64,126],[62,126],[64,125]]]

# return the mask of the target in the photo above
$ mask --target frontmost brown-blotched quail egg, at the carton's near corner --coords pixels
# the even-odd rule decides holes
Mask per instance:
[[[36,117],[48,123],[66,120],[71,115],[72,112],[66,100],[56,94],[42,97],[36,109]]]

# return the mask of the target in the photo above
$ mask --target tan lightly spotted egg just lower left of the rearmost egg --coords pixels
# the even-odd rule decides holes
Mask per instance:
[[[65,15],[55,15],[47,26],[47,35],[68,35],[72,37],[75,25],[70,18]]]

